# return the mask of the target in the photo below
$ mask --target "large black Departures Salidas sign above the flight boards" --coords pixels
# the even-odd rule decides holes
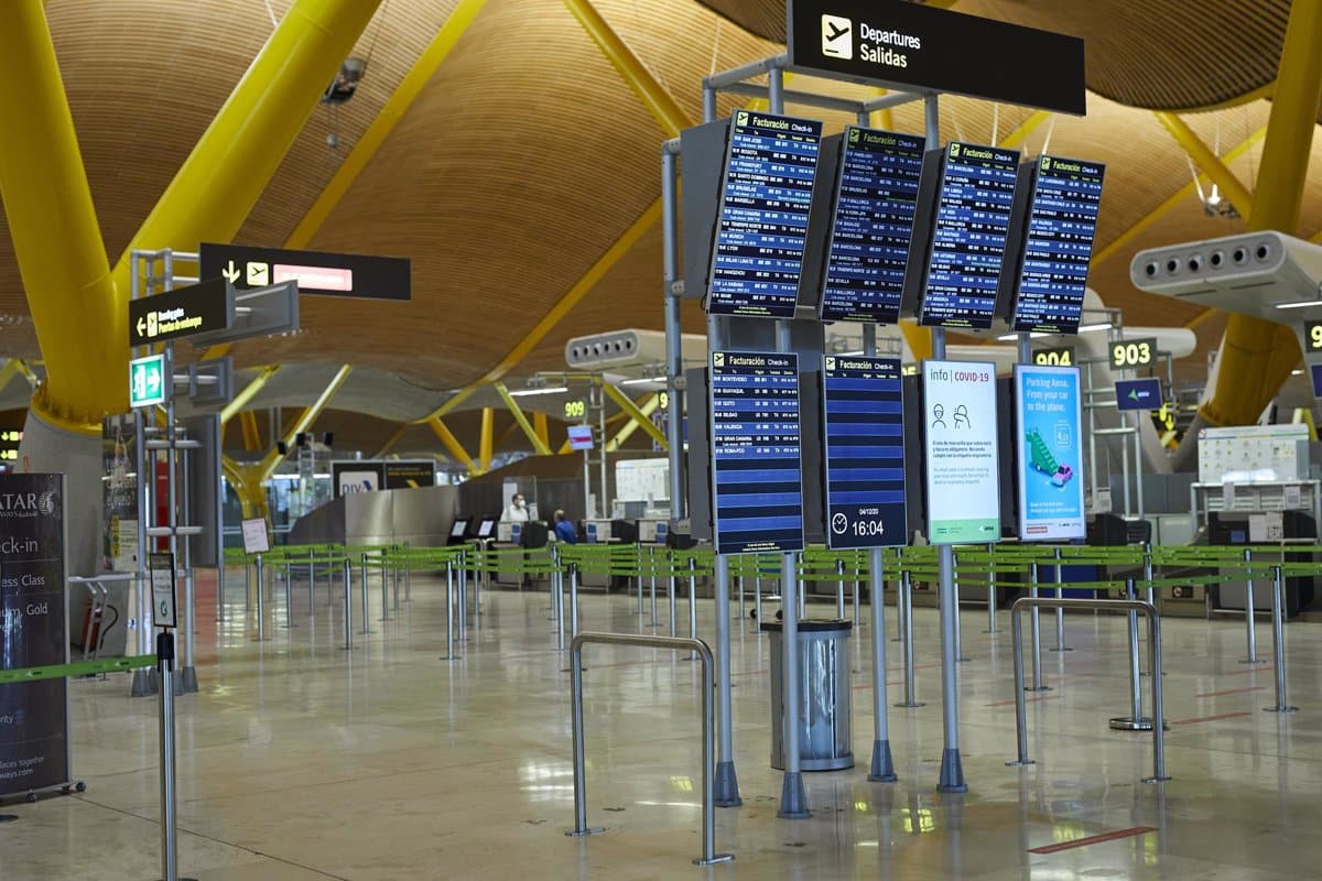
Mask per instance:
[[[1087,112],[1083,40],[907,0],[789,0],[789,63],[814,74]]]

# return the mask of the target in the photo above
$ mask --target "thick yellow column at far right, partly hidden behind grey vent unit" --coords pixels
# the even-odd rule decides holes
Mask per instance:
[[[1248,229],[1296,235],[1322,103],[1322,0],[1294,0],[1281,48],[1272,115]],[[1300,359],[1285,325],[1231,314],[1216,363],[1216,387],[1199,413],[1212,425],[1249,425]]]

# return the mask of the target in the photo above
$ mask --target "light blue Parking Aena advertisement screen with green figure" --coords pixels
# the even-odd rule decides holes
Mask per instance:
[[[1019,540],[1081,539],[1083,432],[1077,367],[1014,369]]]

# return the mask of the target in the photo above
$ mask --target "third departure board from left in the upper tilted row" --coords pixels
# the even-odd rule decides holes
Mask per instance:
[[[992,326],[1019,153],[951,141],[937,194],[919,324]]]

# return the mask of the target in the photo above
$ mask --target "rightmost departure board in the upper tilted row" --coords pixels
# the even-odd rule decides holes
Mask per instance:
[[[1058,156],[1038,161],[1023,269],[1014,301],[1019,333],[1079,333],[1105,166]]]

